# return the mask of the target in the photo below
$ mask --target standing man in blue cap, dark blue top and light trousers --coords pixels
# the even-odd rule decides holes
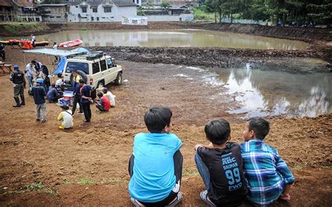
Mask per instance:
[[[46,91],[43,87],[43,79],[37,78],[36,85],[32,87],[31,93],[36,104],[36,121],[46,122]]]

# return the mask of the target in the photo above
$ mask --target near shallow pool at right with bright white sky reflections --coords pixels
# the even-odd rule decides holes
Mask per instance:
[[[245,117],[331,113],[331,73],[291,74],[277,71],[209,69],[219,75],[228,94],[241,103],[230,113]]]

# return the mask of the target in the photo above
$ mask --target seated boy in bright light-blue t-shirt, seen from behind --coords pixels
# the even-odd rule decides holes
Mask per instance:
[[[170,108],[150,108],[144,116],[150,133],[134,137],[128,188],[135,206],[175,206],[182,199],[182,142],[170,133],[171,118]]]

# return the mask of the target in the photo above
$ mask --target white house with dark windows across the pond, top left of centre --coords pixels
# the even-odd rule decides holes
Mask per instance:
[[[132,0],[65,1],[69,5],[68,22],[121,22],[123,17],[137,15]]]

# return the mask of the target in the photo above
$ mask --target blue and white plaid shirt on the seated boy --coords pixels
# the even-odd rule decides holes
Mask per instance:
[[[293,174],[275,148],[260,139],[241,143],[240,147],[250,201],[267,206],[279,198],[284,185],[294,183]]]

